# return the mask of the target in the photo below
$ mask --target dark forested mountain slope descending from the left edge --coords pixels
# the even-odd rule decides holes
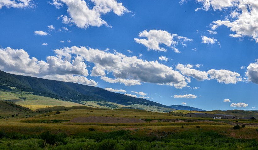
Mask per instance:
[[[0,89],[22,91],[33,95],[71,101],[90,106],[111,108],[137,108],[157,112],[170,112],[173,108],[143,98],[114,93],[95,86],[47,80],[36,77],[9,74],[0,71]],[[109,107],[108,107],[109,108]]]

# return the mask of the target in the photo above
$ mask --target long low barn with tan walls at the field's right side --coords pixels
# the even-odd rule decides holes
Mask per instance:
[[[208,114],[208,113],[188,113],[185,114],[186,117],[202,117],[202,118],[214,118],[215,119],[236,119],[237,116],[230,114]]]

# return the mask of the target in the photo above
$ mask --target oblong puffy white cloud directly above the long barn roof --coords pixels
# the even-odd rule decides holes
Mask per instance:
[[[229,70],[210,69],[207,73],[210,75],[210,79],[216,79],[219,83],[235,84],[238,81],[242,81],[240,74]]]

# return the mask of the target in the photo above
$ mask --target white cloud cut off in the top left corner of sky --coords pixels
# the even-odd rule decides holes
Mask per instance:
[[[32,0],[18,0],[18,2],[14,0],[0,0],[0,9],[3,7],[7,8],[25,8],[25,7],[33,7],[33,1]]]

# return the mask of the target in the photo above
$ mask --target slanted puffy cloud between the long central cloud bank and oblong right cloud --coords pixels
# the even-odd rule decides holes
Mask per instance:
[[[182,64],[178,64],[176,68],[182,73],[182,75],[194,77],[198,81],[203,81],[203,80],[209,79],[207,72],[199,71],[196,69],[190,69],[189,65],[187,67]]]

